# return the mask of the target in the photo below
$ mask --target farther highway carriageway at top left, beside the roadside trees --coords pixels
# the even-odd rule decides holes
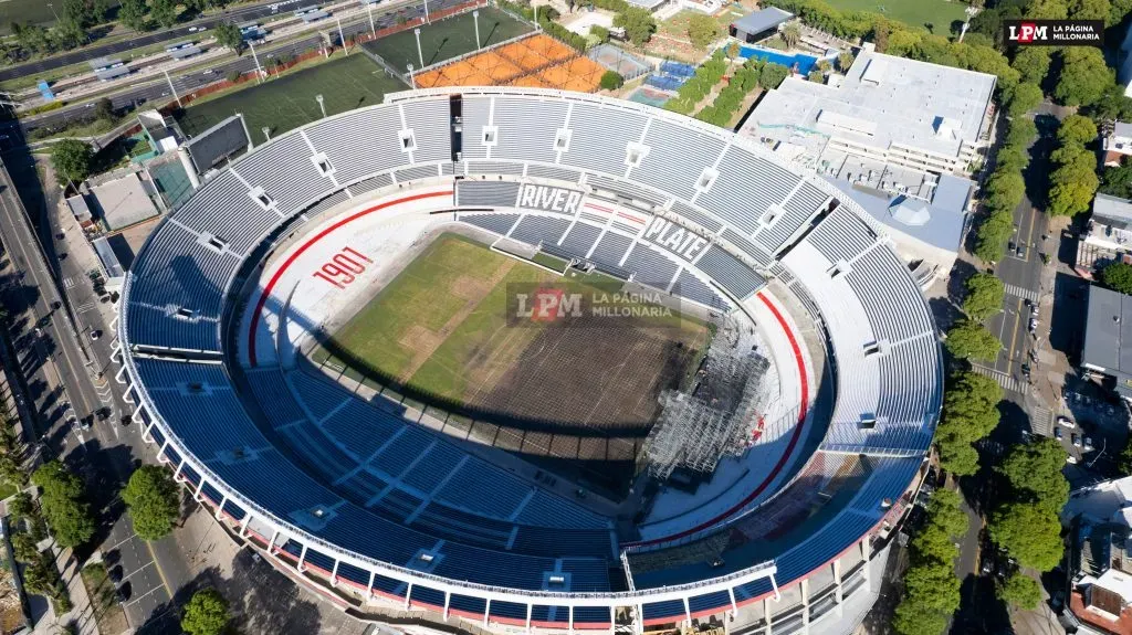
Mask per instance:
[[[306,0],[280,0],[277,2],[269,2],[269,3],[265,2],[261,5],[254,5],[250,7],[241,7],[238,9],[231,9],[231,10],[225,9],[224,12],[222,14],[216,14],[214,16],[208,16],[198,20],[194,20],[191,23],[186,23],[183,25],[175,26],[170,29],[158,31],[156,33],[139,34],[137,37],[131,37],[129,40],[123,40],[120,42],[111,42],[109,44],[86,46],[79,51],[72,51],[70,53],[54,55],[51,58],[46,58],[44,60],[27,62],[16,67],[7,68],[0,70],[0,81],[17,79],[29,75],[36,75],[49,71],[51,69],[57,69],[61,67],[85,62],[87,60],[106,58],[110,55],[114,55],[117,53],[125,53],[128,51],[132,51],[134,49],[139,49],[142,46],[148,46],[151,44],[160,44],[162,42],[169,42],[196,33],[196,32],[190,32],[189,28],[197,28],[197,29],[199,29],[200,27],[213,28],[216,25],[225,21],[239,24],[259,18],[271,17],[278,14],[281,10],[286,11],[290,8],[295,8],[302,5],[303,2],[306,2]]]

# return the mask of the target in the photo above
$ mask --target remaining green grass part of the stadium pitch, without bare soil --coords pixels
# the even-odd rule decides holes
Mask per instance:
[[[540,355],[528,347],[544,341],[539,339],[543,331],[585,328],[508,322],[514,308],[509,299],[517,288],[532,285],[528,288],[533,289],[549,282],[565,294],[586,297],[623,287],[601,273],[572,271],[560,277],[463,236],[444,234],[334,333],[325,345],[329,351],[319,349],[311,357],[316,362],[350,358],[349,366],[360,367],[383,383],[404,385],[410,393],[447,403],[463,403],[473,393],[491,390],[505,369]],[[679,313],[636,319],[634,324],[670,329],[668,339],[689,345],[709,337],[703,322]],[[610,337],[589,330],[595,337]]]

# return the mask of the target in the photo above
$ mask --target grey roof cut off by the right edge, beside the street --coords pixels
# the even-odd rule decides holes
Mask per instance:
[[[1132,296],[1089,288],[1081,364],[1116,377],[1116,391],[1132,397]]]

